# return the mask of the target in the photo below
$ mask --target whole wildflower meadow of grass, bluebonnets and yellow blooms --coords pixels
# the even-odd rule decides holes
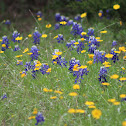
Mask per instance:
[[[113,13],[120,8],[111,4]],[[126,37],[116,40],[111,29],[123,21],[109,19],[109,10],[93,22],[88,11],[50,20],[29,13],[29,32],[0,23],[7,29],[0,35],[0,125],[126,126]]]

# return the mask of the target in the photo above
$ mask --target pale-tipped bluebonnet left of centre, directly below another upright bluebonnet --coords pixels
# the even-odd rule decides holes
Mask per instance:
[[[38,50],[37,46],[33,45],[32,48],[31,48],[31,51],[30,51],[30,52],[32,53],[32,54],[30,55],[30,57],[32,58],[31,61],[33,61],[34,59],[35,59],[35,60],[38,59],[38,56],[40,55],[40,54],[38,53],[38,51],[39,51],[39,50]]]

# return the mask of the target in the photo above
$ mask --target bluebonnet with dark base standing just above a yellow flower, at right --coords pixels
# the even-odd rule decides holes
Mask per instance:
[[[106,67],[100,67],[98,80],[101,83],[107,82],[106,77],[107,77],[107,68]]]

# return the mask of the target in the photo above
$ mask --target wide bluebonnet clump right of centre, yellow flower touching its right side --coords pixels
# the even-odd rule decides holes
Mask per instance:
[[[94,51],[94,63],[98,63],[98,62],[105,62],[107,60],[107,58],[105,57],[105,52],[104,51],[99,51],[99,50],[95,50]]]

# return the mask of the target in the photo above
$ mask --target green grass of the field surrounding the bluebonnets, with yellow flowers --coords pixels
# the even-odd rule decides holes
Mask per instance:
[[[48,23],[42,19],[42,21],[35,23],[34,28],[41,34],[47,34],[46,38],[40,37],[40,44],[36,46],[40,54],[38,56],[38,61],[41,63],[39,64],[40,68],[43,63],[47,63],[51,72],[47,72],[47,70],[46,74],[43,75],[39,68],[35,72],[35,78],[32,76],[32,69],[26,71],[26,75],[22,73],[22,71],[25,71],[26,62],[31,62],[34,65],[35,59],[31,61],[31,57],[27,53],[30,53],[34,45],[33,37],[28,37],[28,35],[32,34],[33,36],[35,31],[31,30],[27,35],[21,33],[20,37],[23,37],[23,39],[20,40],[20,43],[14,43],[12,33],[15,28],[13,29],[12,25],[10,27],[3,26],[2,35],[8,37],[11,48],[0,53],[0,125],[35,125],[36,119],[31,119],[34,111],[34,113],[42,113],[45,119],[42,123],[43,126],[121,126],[126,119],[126,102],[122,101],[122,98],[126,97],[126,81],[125,79],[120,81],[120,78],[126,77],[126,61],[123,60],[126,55],[125,49],[121,50],[120,48],[120,52],[117,54],[119,60],[115,63],[111,58],[107,60],[111,66],[105,67],[107,69],[106,79],[109,83],[108,86],[105,86],[102,84],[104,81],[98,80],[100,67],[103,64],[101,62],[87,63],[93,60],[89,58],[90,53],[88,52],[90,41],[87,39],[82,42],[84,44],[83,50],[86,50],[86,52],[78,54],[75,46],[73,50],[66,46],[71,40],[78,42],[78,39],[80,39],[80,35],[75,37],[71,34],[72,26],[60,26],[60,29],[54,30],[54,24],[52,24],[52,27],[46,28]],[[97,21],[97,23],[90,24],[84,18],[81,24],[84,32],[88,33],[88,28],[93,27],[95,38],[100,37],[100,40],[103,40],[99,43],[100,46],[97,47],[97,50],[105,51],[106,54],[111,53],[115,35],[110,27],[121,27],[118,21],[110,20],[106,24]],[[107,33],[100,33],[101,31],[107,31]],[[58,43],[57,38],[54,38],[58,34],[63,35],[64,41],[62,43]],[[20,50],[13,51],[17,44]],[[119,47],[123,46],[125,47],[125,42],[120,44],[117,41],[115,48],[118,51]],[[0,48],[2,48],[2,44]],[[23,52],[26,48],[29,50]],[[67,61],[67,67],[52,63],[52,53],[55,49],[62,52],[61,57],[64,57]],[[18,55],[22,55],[22,57],[17,58]],[[76,68],[77,71],[72,68],[72,72],[70,72],[69,61],[72,57],[79,60],[81,66],[87,66],[89,71],[87,75],[83,75],[84,79],[81,82],[77,81],[77,87],[80,87],[80,89],[73,87],[76,79],[73,72],[80,70],[79,67],[81,66]],[[22,60],[23,65],[17,65],[17,60]],[[119,77],[112,79],[114,74]],[[71,95],[75,94],[75,96],[70,96],[70,93]],[[3,98],[5,94],[7,98]],[[34,110],[35,108],[37,110]],[[93,110],[97,112],[93,114]],[[41,123],[38,125],[41,125]]]

